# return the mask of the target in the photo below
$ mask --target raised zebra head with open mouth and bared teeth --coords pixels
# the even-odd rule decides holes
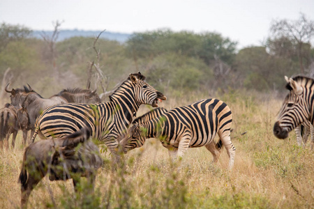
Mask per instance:
[[[135,100],[138,104],[149,104],[158,107],[158,102],[167,100],[167,97],[153,86],[144,81],[145,77],[140,72],[129,75],[130,81],[134,85]]]

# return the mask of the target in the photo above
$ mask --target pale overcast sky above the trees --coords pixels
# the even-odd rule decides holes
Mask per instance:
[[[216,31],[239,47],[260,45],[271,20],[297,20],[300,12],[314,20],[314,0],[0,0],[0,22],[33,30],[52,30],[59,20],[60,29]]]

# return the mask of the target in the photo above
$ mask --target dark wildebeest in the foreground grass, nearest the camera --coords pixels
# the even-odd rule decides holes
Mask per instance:
[[[50,180],[72,178],[75,192],[80,177],[87,177],[94,190],[96,171],[103,160],[98,146],[87,140],[90,135],[90,130],[82,128],[63,138],[36,141],[25,149],[19,177],[21,208],[27,208],[31,191],[47,173]]]

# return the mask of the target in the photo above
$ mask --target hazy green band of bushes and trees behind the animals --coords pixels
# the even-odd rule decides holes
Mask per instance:
[[[89,65],[96,60],[92,38],[54,42],[52,52],[47,36],[44,40],[30,34],[24,26],[1,24],[0,79],[10,68],[13,85],[30,83],[44,95],[86,84]],[[284,75],[314,76],[313,36],[314,23],[303,14],[299,20],[272,22],[263,45],[243,49],[216,32],[158,29],[133,33],[125,43],[100,38],[97,61],[109,87],[140,71],[163,92],[281,91]],[[97,83],[91,87],[97,88]]]

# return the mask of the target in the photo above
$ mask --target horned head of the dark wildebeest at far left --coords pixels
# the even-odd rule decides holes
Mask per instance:
[[[33,91],[33,89],[31,88],[31,86],[29,86],[29,84],[27,84],[29,87],[24,86],[24,88],[12,88],[11,91],[8,90],[8,85],[10,83],[8,83],[6,85],[6,88],[4,89],[6,92],[11,93],[10,95],[10,99],[11,99],[11,104],[15,107],[18,107],[19,105],[22,105],[22,103],[24,102],[25,98],[27,97],[27,95],[29,95],[29,93],[34,93],[35,91]],[[36,93],[36,92],[35,92]]]

